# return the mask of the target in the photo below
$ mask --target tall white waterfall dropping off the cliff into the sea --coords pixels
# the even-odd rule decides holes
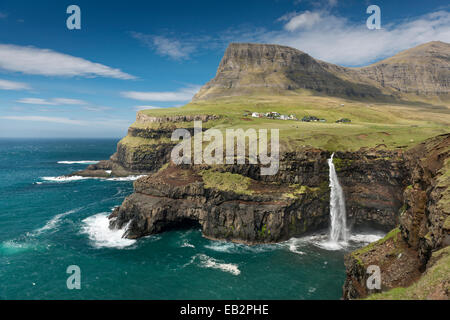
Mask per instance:
[[[328,159],[330,168],[330,236],[331,243],[347,242],[347,217],[345,212],[345,199],[342,187],[339,184],[336,170],[333,164],[334,153]]]

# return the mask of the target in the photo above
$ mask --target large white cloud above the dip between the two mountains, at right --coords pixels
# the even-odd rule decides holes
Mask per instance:
[[[368,17],[368,15],[367,15]],[[366,65],[419,44],[450,42],[450,12],[437,11],[395,24],[381,21],[381,30],[352,23],[328,11],[285,15],[284,30],[266,32],[255,40],[291,46],[327,62]]]

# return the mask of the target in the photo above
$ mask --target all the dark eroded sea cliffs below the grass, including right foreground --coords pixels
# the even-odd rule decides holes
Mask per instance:
[[[111,214],[112,228],[126,228],[126,237],[139,238],[195,226],[211,239],[255,244],[328,227],[330,151],[305,146],[281,152],[275,176],[261,176],[259,166],[249,164],[175,166],[171,133],[192,132],[196,119],[207,130],[217,117],[138,114],[110,160],[75,173],[147,175],[135,181],[135,193]],[[379,146],[335,152],[351,227],[393,229],[345,258],[344,298],[398,298],[389,290],[399,287],[415,288],[404,289],[403,298],[448,298],[449,150],[450,134],[445,134],[408,151]],[[381,268],[381,290],[367,289],[369,265]],[[427,280],[436,278],[439,283]],[[386,293],[373,295],[379,291]]]

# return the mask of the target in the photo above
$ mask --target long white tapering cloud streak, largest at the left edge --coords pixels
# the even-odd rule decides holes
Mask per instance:
[[[100,63],[49,49],[0,44],[0,69],[24,74],[135,79]]]

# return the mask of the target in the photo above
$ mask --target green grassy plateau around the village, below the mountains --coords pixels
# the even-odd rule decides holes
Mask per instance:
[[[275,120],[244,116],[248,112],[276,111],[294,114],[298,119],[316,116],[321,122]],[[282,150],[297,150],[306,146],[334,150],[357,150],[361,147],[386,145],[389,149],[408,148],[417,143],[450,132],[450,106],[427,103],[377,103],[343,98],[317,96],[307,92],[289,96],[240,96],[213,101],[191,102],[179,108],[140,111],[149,116],[214,114],[219,120],[204,123],[225,131],[230,128],[279,129]],[[336,120],[351,119],[339,124]],[[166,124],[142,124],[135,127],[154,127]],[[177,127],[193,123],[178,123]],[[381,146],[380,146],[381,147]]]

